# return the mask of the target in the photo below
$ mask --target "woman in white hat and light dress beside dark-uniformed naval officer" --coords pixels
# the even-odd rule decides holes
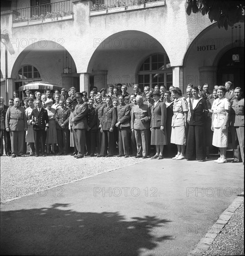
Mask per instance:
[[[49,117],[49,129],[47,130],[46,134],[46,148],[47,148],[47,155],[55,154],[54,151],[54,145],[57,144],[57,133],[56,133],[56,122],[55,122],[55,109],[52,108],[53,100],[48,99],[45,101],[45,106],[47,106],[45,109],[48,112]],[[52,146],[52,149],[51,149]]]

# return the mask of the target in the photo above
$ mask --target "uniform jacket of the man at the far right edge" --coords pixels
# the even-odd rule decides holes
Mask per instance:
[[[231,126],[244,126],[244,98],[231,101]]]

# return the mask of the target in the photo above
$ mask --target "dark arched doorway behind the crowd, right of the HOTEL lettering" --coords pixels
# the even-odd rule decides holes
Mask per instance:
[[[231,81],[234,87],[244,85],[244,47],[228,50],[220,58],[217,69],[218,84]]]

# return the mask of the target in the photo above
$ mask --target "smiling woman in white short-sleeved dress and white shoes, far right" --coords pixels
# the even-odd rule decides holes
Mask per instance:
[[[228,147],[228,125],[230,102],[226,99],[226,88],[219,86],[217,90],[218,99],[213,101],[212,125],[213,146],[219,148],[220,156],[214,162],[226,163],[226,148]]]

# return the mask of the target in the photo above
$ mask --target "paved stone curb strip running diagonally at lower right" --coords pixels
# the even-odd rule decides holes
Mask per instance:
[[[191,250],[187,256],[202,256],[205,254],[206,250],[213,243],[214,239],[222,231],[225,225],[229,222],[230,218],[233,216],[235,211],[241,206],[244,202],[244,192],[242,192],[234,201],[228,206],[227,209],[219,216],[219,219],[213,224],[212,230],[213,233],[206,233],[204,237],[201,238],[200,242],[196,245],[195,249]]]

